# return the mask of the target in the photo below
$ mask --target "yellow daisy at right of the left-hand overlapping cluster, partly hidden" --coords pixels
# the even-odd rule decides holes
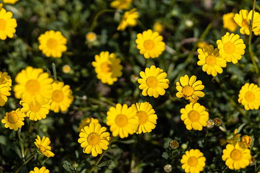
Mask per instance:
[[[53,82],[51,85],[52,94],[51,99],[49,100],[51,110],[55,113],[58,113],[59,110],[68,110],[74,100],[70,85],[64,85],[64,82]]]

